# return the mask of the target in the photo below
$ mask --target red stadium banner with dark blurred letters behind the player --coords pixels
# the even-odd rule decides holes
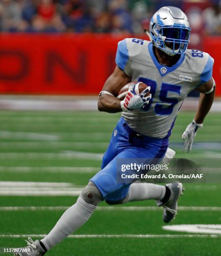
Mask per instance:
[[[0,93],[98,95],[115,67],[117,43],[125,37],[1,34]],[[208,40],[205,50],[216,54],[214,77],[220,82],[221,39],[217,44]]]

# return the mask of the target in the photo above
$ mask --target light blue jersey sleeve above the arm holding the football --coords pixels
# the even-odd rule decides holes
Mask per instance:
[[[118,49],[116,53],[116,64],[119,69],[123,70],[128,76],[129,75],[129,70],[128,70],[128,59],[129,59],[129,54],[128,54],[128,48],[126,44],[126,39],[118,42]]]

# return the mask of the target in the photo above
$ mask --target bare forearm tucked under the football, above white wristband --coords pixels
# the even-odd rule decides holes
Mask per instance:
[[[101,95],[98,98],[98,110],[108,113],[121,112],[121,100],[111,95]]]

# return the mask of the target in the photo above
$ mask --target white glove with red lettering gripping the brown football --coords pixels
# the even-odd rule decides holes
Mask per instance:
[[[149,100],[151,99],[151,94],[144,97],[150,90],[151,87],[148,86],[145,90],[143,90],[143,92],[141,92],[140,95],[136,95],[133,92],[133,85],[131,85],[124,100],[121,101],[122,110],[127,112],[134,109],[143,108],[146,104],[149,103]]]

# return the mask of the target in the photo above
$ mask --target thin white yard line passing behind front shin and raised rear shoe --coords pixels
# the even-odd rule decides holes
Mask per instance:
[[[204,206],[179,206],[179,211],[211,211],[221,212],[221,207],[204,207]],[[0,207],[0,211],[54,211],[66,210],[68,206],[6,206]],[[98,211],[162,211],[162,207],[156,206],[100,206]]]

